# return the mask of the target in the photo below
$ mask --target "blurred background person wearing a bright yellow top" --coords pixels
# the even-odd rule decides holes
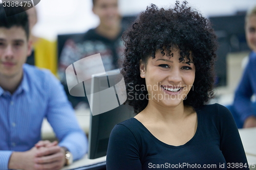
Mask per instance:
[[[57,76],[56,41],[49,41],[45,38],[33,35],[32,29],[37,22],[36,8],[31,8],[26,12],[29,17],[30,40],[32,41],[32,53],[26,63],[39,68],[50,69],[51,72]]]

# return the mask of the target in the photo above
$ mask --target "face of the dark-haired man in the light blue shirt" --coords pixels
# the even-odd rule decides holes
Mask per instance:
[[[0,27],[0,77],[21,76],[22,66],[30,54],[31,43],[22,27]]]

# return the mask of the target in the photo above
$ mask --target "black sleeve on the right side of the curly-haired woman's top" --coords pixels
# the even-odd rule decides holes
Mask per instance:
[[[218,113],[220,116],[220,150],[225,157],[227,169],[249,169],[244,147],[232,114],[226,107],[221,105],[218,105]],[[228,168],[228,165],[238,164],[243,164],[243,167],[235,166]]]

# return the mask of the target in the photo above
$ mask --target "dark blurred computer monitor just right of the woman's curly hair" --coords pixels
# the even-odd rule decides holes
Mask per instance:
[[[217,61],[215,62],[216,86],[227,85],[228,53],[249,51],[244,30],[244,13],[231,16],[209,17],[218,37]]]

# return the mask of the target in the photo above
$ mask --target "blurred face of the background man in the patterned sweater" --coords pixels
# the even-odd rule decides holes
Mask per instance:
[[[118,0],[96,0],[93,12],[99,16],[101,24],[105,27],[116,25],[121,18],[118,10]]]

